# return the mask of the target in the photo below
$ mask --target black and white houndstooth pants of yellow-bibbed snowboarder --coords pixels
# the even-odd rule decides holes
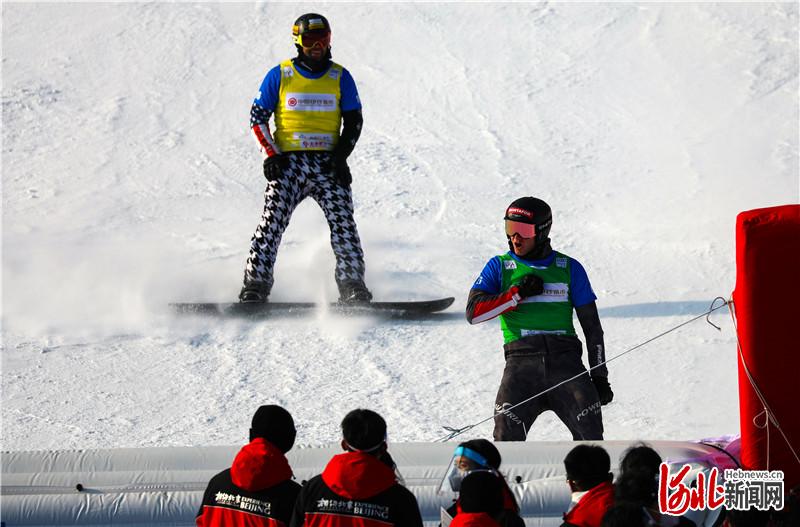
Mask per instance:
[[[331,231],[331,246],[336,256],[336,282],[364,281],[364,252],[353,218],[350,187],[336,181],[327,152],[290,152],[289,167],[282,177],[267,182],[264,212],[253,238],[244,281],[262,282],[272,288],[272,272],[278,246],[292,212],[307,197],[312,197],[325,214]]]

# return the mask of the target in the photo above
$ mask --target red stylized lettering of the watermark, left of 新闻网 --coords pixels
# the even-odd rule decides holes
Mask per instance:
[[[725,502],[725,488],[717,484],[719,469],[714,467],[708,475],[697,474],[694,484],[683,482],[691,466],[683,465],[674,475],[670,475],[669,466],[661,463],[658,476],[658,510],[661,514],[681,516],[688,510],[718,509]]]

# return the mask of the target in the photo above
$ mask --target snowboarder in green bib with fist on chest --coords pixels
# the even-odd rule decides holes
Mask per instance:
[[[573,439],[603,439],[600,406],[610,403],[614,393],[602,364],[603,328],[586,271],[550,247],[553,219],[544,201],[515,200],[504,219],[510,250],[489,260],[467,303],[470,324],[500,317],[503,329],[506,366],[495,400],[494,439],[524,441],[546,410],[558,415]],[[573,310],[586,337],[591,376],[581,375],[516,406],[586,372]]]

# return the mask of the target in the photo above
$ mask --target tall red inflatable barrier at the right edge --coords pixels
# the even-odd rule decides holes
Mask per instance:
[[[800,453],[800,205],[742,212],[736,219],[739,343],[745,364],[783,434]],[[800,484],[800,462],[739,358],[742,464],[782,470],[785,490]]]

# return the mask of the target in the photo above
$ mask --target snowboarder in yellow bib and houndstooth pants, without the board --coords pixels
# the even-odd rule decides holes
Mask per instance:
[[[250,127],[264,154],[267,189],[239,300],[267,301],[283,232],[294,209],[310,196],[330,227],[339,301],[369,302],[347,166],[361,135],[361,101],[353,77],[331,60],[331,27],[324,16],[301,16],[292,36],[297,56],[267,73],[250,109]]]

